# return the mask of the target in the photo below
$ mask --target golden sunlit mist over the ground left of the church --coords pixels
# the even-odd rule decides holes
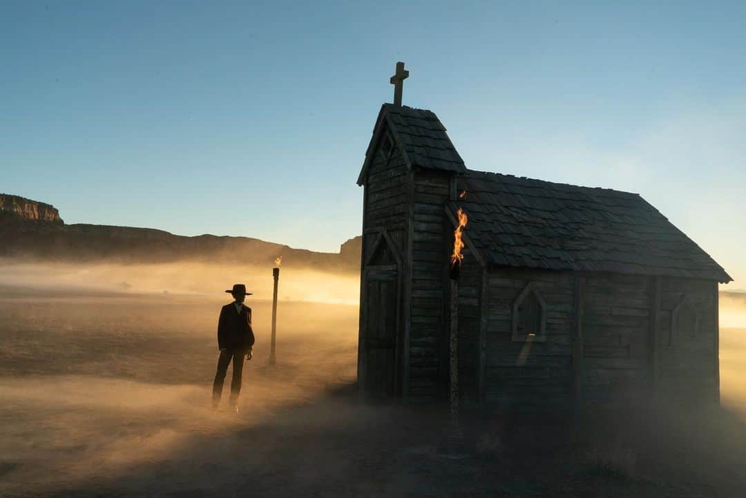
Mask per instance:
[[[217,317],[236,282],[254,292],[246,304],[257,344],[244,369],[244,416],[216,415]],[[278,423],[278,410],[313,404],[356,375],[357,277],[281,272],[277,368],[266,365],[271,268],[4,265],[0,291],[4,496],[116,480],[195,444],[189,465],[214,465],[225,460],[210,453],[224,438]]]

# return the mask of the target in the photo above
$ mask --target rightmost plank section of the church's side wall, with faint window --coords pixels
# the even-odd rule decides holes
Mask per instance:
[[[667,399],[719,399],[717,291],[717,284],[706,280],[662,278],[656,371],[658,391]],[[696,324],[689,326],[674,319],[674,309],[685,298],[696,313]]]

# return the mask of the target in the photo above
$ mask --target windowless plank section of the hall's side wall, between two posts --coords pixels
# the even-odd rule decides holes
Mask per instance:
[[[651,391],[651,279],[591,274],[583,287],[584,404],[631,403]]]

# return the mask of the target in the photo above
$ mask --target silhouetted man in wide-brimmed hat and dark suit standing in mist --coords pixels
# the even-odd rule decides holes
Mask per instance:
[[[233,360],[233,379],[231,380],[231,410],[238,412],[238,395],[241,391],[241,374],[243,356],[251,359],[251,347],[254,346],[254,330],[251,330],[251,308],[243,305],[247,295],[246,286],[236,283],[230,291],[233,303],[226,304],[220,310],[218,319],[218,371],[213,383],[213,410],[217,410],[223,392],[223,381],[228,371],[228,364]]]

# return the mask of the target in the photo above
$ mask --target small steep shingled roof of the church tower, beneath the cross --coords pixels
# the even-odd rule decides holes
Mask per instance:
[[[430,110],[414,107],[383,104],[373,129],[373,136],[366,151],[363,169],[357,178],[362,185],[374,151],[383,131],[388,128],[392,138],[399,146],[404,160],[410,168],[419,167],[463,173],[466,166],[456,151],[445,126],[438,116]]]

